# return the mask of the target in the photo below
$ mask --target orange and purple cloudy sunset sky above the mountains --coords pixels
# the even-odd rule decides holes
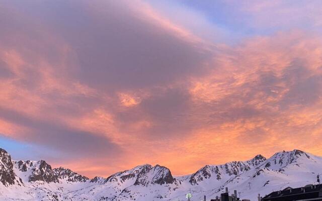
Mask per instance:
[[[0,0],[0,147],[88,177],[322,155],[322,1]]]

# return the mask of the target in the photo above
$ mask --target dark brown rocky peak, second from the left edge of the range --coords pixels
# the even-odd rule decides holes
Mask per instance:
[[[46,161],[38,161],[32,168],[32,173],[29,176],[29,182],[32,181],[44,181],[47,183],[59,182],[58,176],[55,175],[51,166],[46,163]]]

